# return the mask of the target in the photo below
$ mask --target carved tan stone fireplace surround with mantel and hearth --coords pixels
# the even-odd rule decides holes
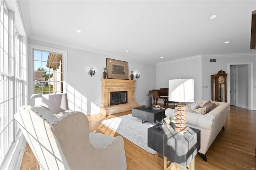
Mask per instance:
[[[100,114],[111,115],[124,111],[130,111],[134,107],[139,107],[134,101],[134,90],[136,80],[122,79],[101,79],[101,107]],[[127,91],[127,104],[110,106],[110,92]]]

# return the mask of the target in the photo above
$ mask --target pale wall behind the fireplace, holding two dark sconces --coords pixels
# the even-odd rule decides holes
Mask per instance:
[[[136,103],[144,104],[148,90],[156,88],[156,65],[32,39],[29,39],[29,43],[68,51],[68,91],[70,92],[68,98],[74,105],[69,106],[70,110],[82,111],[86,115],[100,113],[100,79],[103,78],[102,72],[104,71],[103,67],[106,67],[106,58],[127,61],[129,74],[131,74],[131,70],[140,73],[140,78],[135,83],[134,99]],[[95,76],[88,75],[90,67],[95,68]],[[136,80],[135,76],[134,80]]]

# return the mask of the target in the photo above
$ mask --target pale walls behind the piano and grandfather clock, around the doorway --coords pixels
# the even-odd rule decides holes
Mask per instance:
[[[209,59],[217,59],[217,62],[209,62]],[[245,98],[251,98],[253,100],[252,108],[256,110],[256,51],[251,54],[227,54],[227,55],[202,55],[197,57],[188,57],[182,60],[169,61],[165,63],[158,63],[156,65],[156,88],[168,87],[168,80],[176,78],[193,78],[194,79],[194,96],[197,100],[210,100],[211,99],[211,75],[217,74],[220,69],[229,74],[229,65],[236,64],[250,64],[253,66],[252,75],[248,74],[248,82],[252,80],[254,88],[248,89],[246,96],[242,96],[241,100],[245,101]],[[244,64],[243,64],[244,65]],[[242,68],[245,72],[246,68]],[[251,77],[250,77],[251,76]],[[229,75],[227,80],[229,79]],[[243,79],[241,81],[244,81]],[[229,85],[227,85],[228,87]],[[203,88],[204,87],[204,88]],[[208,88],[206,88],[208,87]],[[228,89],[227,89],[228,90]],[[243,90],[244,91],[244,90]],[[252,97],[251,97],[251,96]],[[229,94],[227,95],[229,97]],[[229,99],[227,98],[229,101]],[[242,101],[241,101],[242,102]],[[248,102],[242,102],[241,105]],[[250,108],[249,108],[250,109]]]

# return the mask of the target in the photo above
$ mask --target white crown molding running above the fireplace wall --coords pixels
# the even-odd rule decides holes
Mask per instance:
[[[29,39],[36,40],[36,41],[42,41],[42,42],[45,42],[45,43],[51,43],[51,44],[55,44],[55,45],[61,45],[61,46],[64,46],[64,47],[70,47],[70,48],[74,48],[74,49],[80,49],[80,50],[89,51],[89,52],[92,52],[92,53],[98,53],[98,54],[102,54],[102,55],[107,55],[107,56],[110,56],[110,57],[116,57],[116,58],[120,58],[120,59],[124,59],[124,60],[128,59],[128,60],[132,60],[132,61],[136,61],[136,62],[146,63],[146,64],[150,64],[150,65],[156,65],[156,63],[150,63],[148,61],[140,60],[138,58],[128,57],[128,56],[120,55],[120,54],[117,54],[117,53],[110,53],[110,52],[107,52],[107,51],[94,49],[94,48],[86,47],[86,46],[83,46],[83,45],[69,43],[69,42],[66,42],[66,41],[52,39],[52,38],[49,38],[49,37],[43,37],[41,35],[32,34],[29,37]]]

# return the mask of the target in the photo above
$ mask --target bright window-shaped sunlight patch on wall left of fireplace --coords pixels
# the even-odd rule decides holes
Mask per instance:
[[[69,111],[81,111],[85,115],[100,113],[100,107],[93,102],[88,104],[88,98],[68,84],[68,106]]]

